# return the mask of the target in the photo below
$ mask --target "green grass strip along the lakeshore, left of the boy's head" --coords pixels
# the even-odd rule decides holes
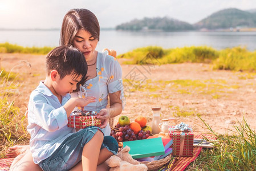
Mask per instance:
[[[48,54],[54,47],[22,47],[17,44],[0,43],[0,53]]]

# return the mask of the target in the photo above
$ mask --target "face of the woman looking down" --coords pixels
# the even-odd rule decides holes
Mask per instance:
[[[86,61],[95,58],[95,48],[98,40],[96,40],[90,32],[86,30],[79,30],[75,35],[74,46],[78,48],[84,54]]]

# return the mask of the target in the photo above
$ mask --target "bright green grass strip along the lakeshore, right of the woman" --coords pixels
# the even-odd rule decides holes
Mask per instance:
[[[211,63],[217,70],[256,71],[256,51],[245,47],[215,50],[208,46],[164,49],[158,46],[136,48],[117,58],[131,59],[126,64]]]

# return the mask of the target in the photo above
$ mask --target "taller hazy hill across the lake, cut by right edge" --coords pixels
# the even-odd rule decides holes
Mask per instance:
[[[196,28],[210,30],[230,27],[256,27],[256,13],[238,9],[225,9],[194,24]]]

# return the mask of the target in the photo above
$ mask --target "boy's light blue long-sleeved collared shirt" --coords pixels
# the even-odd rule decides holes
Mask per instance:
[[[67,127],[67,113],[63,107],[70,95],[62,97],[62,104],[43,82],[32,91],[29,100],[27,131],[30,133],[30,150],[35,164],[51,156],[72,133]]]

